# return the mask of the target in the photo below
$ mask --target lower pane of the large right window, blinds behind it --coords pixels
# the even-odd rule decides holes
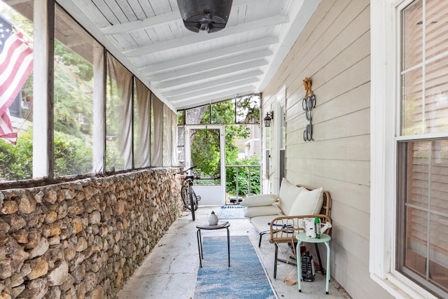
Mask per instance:
[[[399,197],[405,225],[400,270],[409,277],[448,290],[448,139],[401,143],[400,161],[408,161]],[[428,263],[429,262],[429,263]],[[423,282],[424,284],[424,282]]]

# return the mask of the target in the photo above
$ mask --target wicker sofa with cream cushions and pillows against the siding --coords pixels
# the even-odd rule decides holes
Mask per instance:
[[[295,235],[304,231],[303,218],[318,217],[321,223],[331,223],[330,203],[330,193],[323,188],[294,186],[286,179],[281,182],[279,195],[253,195],[241,202],[241,205],[246,207],[244,216],[250,219],[260,233],[258,246],[265,235],[269,236],[269,242],[275,245],[274,278],[278,244],[297,242]],[[330,230],[325,233],[330,234]]]

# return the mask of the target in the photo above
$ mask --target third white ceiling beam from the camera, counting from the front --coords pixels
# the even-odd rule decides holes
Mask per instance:
[[[141,67],[139,70],[142,73],[148,73],[153,75],[162,71],[167,71],[169,69],[176,69],[178,67],[187,67],[188,65],[192,64],[204,63],[209,60],[216,60],[216,58],[219,57],[228,57],[230,55],[235,55],[237,53],[246,52],[249,50],[253,51],[257,48],[268,47],[278,42],[279,39],[276,39],[274,37],[257,39],[255,41],[250,41],[248,43],[241,43],[240,45],[237,46],[226,47],[219,50],[209,51],[207,53],[201,53],[194,56],[184,57],[179,60],[170,60],[167,62],[161,62],[159,64],[147,65],[145,67]],[[139,60],[135,60],[136,64],[138,62]]]

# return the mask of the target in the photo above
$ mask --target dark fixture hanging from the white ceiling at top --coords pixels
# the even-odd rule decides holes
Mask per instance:
[[[233,0],[177,0],[183,25],[193,32],[217,32],[225,27]]]

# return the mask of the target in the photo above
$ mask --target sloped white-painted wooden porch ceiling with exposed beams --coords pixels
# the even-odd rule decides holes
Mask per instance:
[[[175,110],[262,92],[319,2],[233,0],[224,29],[195,33],[176,0],[58,1]]]

